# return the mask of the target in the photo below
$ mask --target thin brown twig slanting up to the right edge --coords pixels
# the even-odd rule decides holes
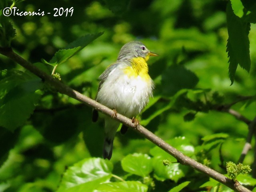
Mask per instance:
[[[246,142],[244,144],[244,148],[242,150],[242,153],[240,155],[240,158],[238,160],[238,163],[243,163],[244,162],[244,158],[246,156],[246,154],[248,153],[248,151],[252,148],[251,146],[251,142],[252,142],[252,136],[255,134],[255,129],[256,129],[256,117],[254,118],[254,120],[249,124],[249,131],[247,134],[247,138],[246,138]]]

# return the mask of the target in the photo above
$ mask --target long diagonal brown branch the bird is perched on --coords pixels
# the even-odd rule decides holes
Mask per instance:
[[[0,48],[0,54],[3,54],[7,56],[8,58],[12,59],[13,61],[17,62],[30,72],[34,73],[36,76],[40,77],[45,82],[48,82],[50,85],[54,86],[58,92],[62,94],[66,94],[80,102],[83,102],[84,104],[102,112],[103,114],[106,114],[108,116],[113,115],[113,110],[107,108],[106,106],[96,102],[95,100],[92,100],[91,98],[88,98],[81,94],[80,92],[77,92],[76,90],[71,89],[70,87],[62,84],[59,80],[56,80],[52,78],[52,76],[46,74],[45,72],[39,70],[36,68],[33,64],[30,62],[24,60],[22,57],[20,57],[18,54],[14,53],[12,49],[10,48]],[[152,132],[144,128],[143,126],[135,126],[132,123],[132,120],[121,115],[117,114],[116,120],[121,122],[122,124],[125,124],[126,126],[131,127],[136,132],[139,132],[144,136],[144,138],[147,138],[160,148],[162,148],[164,151],[168,152],[170,155],[174,156],[178,162],[184,165],[191,166],[192,168],[208,175],[209,177],[213,178],[214,180],[217,180],[218,182],[221,182],[222,184],[228,186],[229,188],[239,191],[239,192],[250,192],[247,188],[239,184],[238,182],[234,182],[233,180],[227,178],[226,176],[216,172],[215,170],[208,168],[207,166],[200,164],[199,162],[196,162],[192,158],[185,156],[180,151],[176,150],[176,148],[170,146],[164,140],[161,138],[158,138],[156,135],[154,135]]]

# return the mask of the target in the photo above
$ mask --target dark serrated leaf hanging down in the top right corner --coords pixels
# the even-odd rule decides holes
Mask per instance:
[[[251,60],[248,38],[250,28],[247,23],[243,23],[242,19],[234,14],[230,2],[227,4],[226,13],[228,25],[227,51],[230,57],[229,73],[233,83],[237,63],[247,72],[250,71]]]

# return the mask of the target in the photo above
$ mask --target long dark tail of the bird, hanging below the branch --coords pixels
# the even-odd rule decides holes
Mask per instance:
[[[104,159],[107,158],[110,160],[112,156],[114,137],[116,135],[119,124],[119,122],[113,120],[112,118],[105,118],[105,138],[102,153]]]

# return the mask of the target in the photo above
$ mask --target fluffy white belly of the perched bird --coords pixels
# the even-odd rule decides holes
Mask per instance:
[[[118,113],[129,118],[139,114],[152,96],[152,80],[143,80],[140,76],[128,78],[119,76],[106,80],[100,88],[97,100],[116,109]]]

